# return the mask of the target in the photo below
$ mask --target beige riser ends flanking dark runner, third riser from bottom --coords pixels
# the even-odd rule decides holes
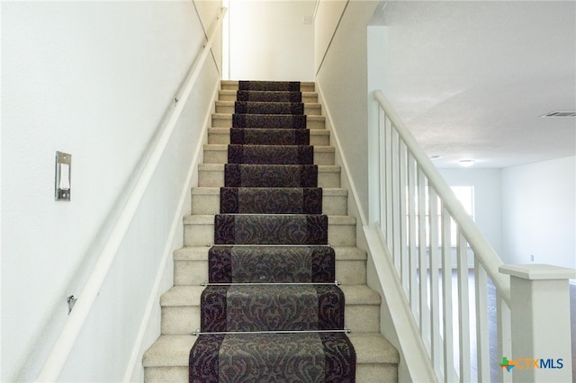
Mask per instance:
[[[174,261],[175,286],[198,286],[206,281],[208,261]],[[366,263],[361,260],[336,261],[336,281],[343,285],[366,283]]]

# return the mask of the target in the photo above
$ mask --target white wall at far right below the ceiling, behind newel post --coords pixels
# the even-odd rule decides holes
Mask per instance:
[[[505,263],[576,268],[576,156],[502,169]]]

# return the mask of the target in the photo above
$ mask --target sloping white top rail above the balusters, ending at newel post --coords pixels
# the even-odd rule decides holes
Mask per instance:
[[[398,134],[410,150],[410,154],[414,157],[419,165],[419,168],[428,178],[428,183],[437,191],[441,196],[446,209],[454,218],[455,222],[461,227],[462,233],[470,246],[473,249],[478,261],[482,263],[482,267],[490,275],[496,289],[499,291],[500,296],[510,304],[510,282],[509,277],[499,272],[499,267],[503,264],[502,260],[496,254],[491,244],[488,242],[482,232],[473,222],[473,219],[466,213],[460,201],[456,198],[454,191],[446,183],[436,166],[432,163],[430,158],[426,155],[424,150],[419,146],[418,141],[410,130],[406,127],[400,116],[392,108],[392,104],[386,99],[382,91],[374,91],[374,98],[380,104],[386,116],[392,121],[396,127]]]

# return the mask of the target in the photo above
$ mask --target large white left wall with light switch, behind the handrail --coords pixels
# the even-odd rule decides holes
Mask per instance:
[[[1,380],[14,381],[38,373],[204,32],[190,1],[1,6]],[[208,8],[215,19],[219,3]],[[182,242],[172,227],[218,84],[213,60],[200,78],[60,379],[123,380],[139,341],[159,334],[159,313],[145,316],[155,283],[171,284],[159,270]],[[54,200],[57,150],[72,155],[70,202]]]

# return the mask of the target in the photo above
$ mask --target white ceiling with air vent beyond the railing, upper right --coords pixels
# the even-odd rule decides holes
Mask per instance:
[[[399,1],[385,94],[439,167],[521,165],[576,155],[576,2]],[[383,9],[382,9],[383,8]]]

